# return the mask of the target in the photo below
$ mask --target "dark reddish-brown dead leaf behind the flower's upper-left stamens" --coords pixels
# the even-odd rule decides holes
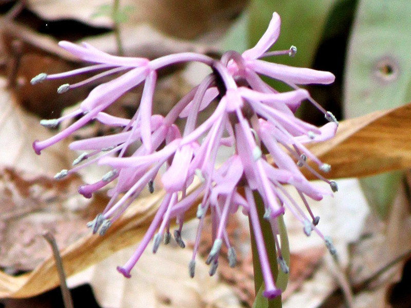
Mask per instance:
[[[28,27],[0,18],[0,75],[7,76],[7,87],[15,102],[42,118],[58,118],[61,111],[87,97],[90,87],[81,87],[58,94],[61,80],[30,84],[33,76],[79,68],[79,59],[57,45],[52,37],[39,34]],[[76,83],[80,76],[66,80]],[[38,136],[36,138],[39,138]],[[32,141],[31,141],[32,142]]]

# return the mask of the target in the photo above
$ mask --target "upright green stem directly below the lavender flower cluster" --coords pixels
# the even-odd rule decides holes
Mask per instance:
[[[261,226],[261,231],[263,232],[264,243],[267,249],[267,256],[270,262],[271,271],[273,274],[274,281],[278,275],[278,266],[277,266],[277,253],[275,249],[275,242],[273,238],[273,233],[271,230],[270,223],[263,218],[264,215],[264,203],[261,196],[258,194],[257,191],[254,191],[254,200],[255,205],[257,207],[258,213],[258,220]],[[263,286],[263,273],[261,273],[260,261],[258,258],[257,246],[254,239],[253,228],[251,224],[251,220],[249,219],[250,223],[250,232],[251,232],[251,251],[253,253],[253,268],[254,268],[254,288],[256,294],[256,301],[253,305],[253,308],[281,308],[281,296],[274,298],[273,300],[262,300],[259,297],[262,297]],[[263,287],[261,287],[263,286]],[[267,303],[267,304],[266,304]]]

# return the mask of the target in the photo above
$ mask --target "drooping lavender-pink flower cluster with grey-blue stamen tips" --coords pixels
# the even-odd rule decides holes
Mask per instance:
[[[75,166],[71,170],[63,170],[56,175],[57,178],[62,178],[92,163],[112,168],[100,181],[79,188],[80,194],[90,198],[93,192],[117,180],[114,188],[109,190],[111,199],[105,210],[88,225],[94,233],[99,232],[103,235],[146,186],[152,192],[153,179],[160,167],[166,165],[166,171],[161,177],[165,196],[135,253],[124,266],[118,267],[118,271],[125,277],[130,277],[130,271],[151,239],[154,253],[162,239],[164,244],[170,242],[172,219],[176,219],[178,224],[178,228],[173,232],[174,238],[178,245],[185,246],[181,230],[184,213],[191,206],[197,206],[199,224],[192,260],[189,263],[190,276],[194,276],[195,256],[204,216],[208,212],[211,215],[214,242],[206,260],[206,263],[210,264],[210,275],[216,272],[223,244],[228,247],[230,266],[235,266],[235,250],[230,244],[225,227],[229,215],[241,207],[242,212],[249,216],[253,227],[265,285],[264,296],[273,298],[279,295],[281,291],[274,284],[268,262],[257,215],[256,206],[259,205],[255,204],[254,192],[258,192],[264,201],[264,217],[272,226],[275,240],[278,232],[276,217],[282,215],[287,208],[301,221],[307,236],[312,231],[316,232],[324,239],[329,251],[335,254],[330,239],[325,238],[316,228],[319,217],[312,214],[306,200],[306,197],[321,200],[324,195],[331,195],[331,192],[307,181],[300,167],[308,168],[319,179],[326,181],[332,191],[337,191],[335,182],[325,179],[307,165],[308,158],[322,171],[328,171],[330,168],[313,156],[304,143],[333,137],[338,122],[330,112],[310,97],[308,91],[297,86],[329,84],[334,81],[334,75],[260,60],[268,55],[295,54],[294,46],[285,51],[267,52],[279,35],[279,26],[280,18],[274,13],[266,33],[255,47],[242,54],[228,51],[220,60],[196,53],[179,53],[149,61],[143,58],[109,55],[88,44],[77,46],[60,42],[62,48],[84,61],[96,64],[60,74],[42,73],[33,78],[32,84],[103,70],[78,84],[62,85],[58,91],[64,92],[103,76],[123,72],[119,77],[92,90],[77,111],[60,119],[43,120],[41,124],[54,127],[65,119],[80,117],[54,137],[33,143],[35,152],[40,154],[41,150],[68,137],[92,120],[122,128],[121,132],[109,136],[72,142],[70,149],[85,152],[73,162]],[[177,102],[165,117],[153,115],[152,103],[157,70],[176,63],[192,61],[208,65],[212,73]],[[260,79],[261,74],[282,81],[294,90],[279,93]],[[140,83],[144,83],[142,98],[132,119],[122,119],[103,112],[123,93]],[[216,109],[206,121],[199,123],[198,113],[213,100],[219,101]],[[294,112],[304,100],[319,108],[330,122],[318,128],[297,119]],[[174,124],[179,117],[186,119],[182,131]],[[132,144],[137,144],[138,148],[131,156],[126,157],[125,151]],[[221,166],[216,166],[217,152],[221,147],[234,147],[235,153]],[[274,162],[272,165],[267,161],[268,154]],[[200,180],[200,184],[188,194],[188,188],[195,178]],[[283,187],[284,184],[295,187],[307,213],[290,197]],[[244,195],[239,188],[245,192]],[[194,204],[200,196],[201,203]],[[278,260],[281,261],[280,267],[283,271],[288,271],[279,243],[275,244]]]

